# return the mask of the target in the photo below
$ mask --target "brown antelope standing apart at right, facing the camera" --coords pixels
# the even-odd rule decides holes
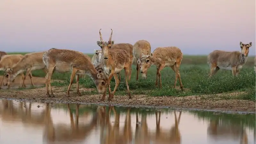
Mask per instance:
[[[216,74],[220,69],[231,70],[233,76],[237,76],[247,61],[249,48],[251,46],[252,42],[249,44],[243,44],[243,42],[240,42],[241,52],[228,52],[223,50],[212,51],[207,57],[208,64],[211,68],[209,77]]]

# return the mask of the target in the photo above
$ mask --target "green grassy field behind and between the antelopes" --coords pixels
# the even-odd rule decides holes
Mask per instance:
[[[8,53],[14,54],[14,53]],[[17,54],[17,53],[15,53]],[[20,53],[19,53],[20,54]],[[26,54],[26,53],[21,53]],[[88,54],[92,57],[92,54]],[[230,92],[242,92],[245,93],[238,94],[237,96],[223,96],[225,99],[245,99],[255,101],[255,72],[253,71],[254,57],[248,57],[246,64],[240,71],[237,77],[232,76],[231,71],[220,70],[212,78],[208,78],[210,71],[209,65],[207,64],[207,56],[183,56],[183,60],[180,66],[180,75],[184,88],[188,89],[185,91],[180,91],[174,89],[174,72],[171,68],[166,67],[161,71],[162,85],[163,88],[159,89],[155,86],[156,80],[156,66],[152,66],[148,70],[148,79],[140,79],[136,81],[136,65],[132,65],[132,78],[129,81],[129,87],[132,94],[144,94],[149,96],[188,96],[188,95],[214,95],[223,93],[223,95]],[[1,75],[3,72],[0,73]],[[45,74],[41,70],[36,70],[32,72],[33,76],[44,77]],[[64,83],[54,82],[53,86],[66,86],[69,84],[70,73],[58,73],[54,72],[52,79],[65,80]],[[95,87],[93,81],[86,77],[85,79],[80,79],[79,83],[82,87]],[[179,87],[179,80],[177,81],[177,86]],[[111,80],[111,90],[115,87],[114,78]],[[84,92],[84,95],[96,94],[97,91]],[[124,70],[121,71],[121,82],[117,88],[116,95],[125,95],[126,85],[124,78]]]

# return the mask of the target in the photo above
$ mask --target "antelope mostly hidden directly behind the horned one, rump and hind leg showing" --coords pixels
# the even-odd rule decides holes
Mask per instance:
[[[97,41],[97,44],[98,44],[99,41]],[[104,42],[105,45],[108,45],[107,42]],[[113,41],[114,43],[114,41]],[[114,49],[124,49],[128,55],[129,55],[129,58],[130,58],[130,72],[129,72],[129,78],[128,80],[131,79],[131,76],[132,76],[132,63],[133,63],[133,46],[132,44],[130,43],[116,43],[116,44],[113,44],[111,46],[111,50],[114,50]],[[121,75],[120,75],[120,72],[117,72],[117,74],[119,75],[119,81],[121,81]]]

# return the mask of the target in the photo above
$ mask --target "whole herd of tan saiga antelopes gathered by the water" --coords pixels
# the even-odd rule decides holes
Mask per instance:
[[[101,30],[101,29],[100,29]],[[112,41],[113,30],[108,42],[104,42],[101,32],[100,41],[97,41],[97,45],[100,50],[95,50],[95,54],[92,59],[82,52],[69,50],[69,49],[49,49],[43,52],[28,53],[24,56],[19,54],[7,55],[7,53],[0,51],[0,70],[5,71],[4,77],[1,80],[1,85],[4,78],[7,78],[8,88],[10,82],[14,81],[17,75],[21,75],[21,87],[26,87],[24,80],[27,76],[30,77],[31,85],[33,86],[31,71],[43,69],[46,73],[46,94],[48,97],[54,97],[51,87],[51,77],[54,71],[64,73],[71,72],[70,83],[67,90],[67,96],[69,96],[70,87],[76,76],[77,90],[76,93],[80,96],[79,92],[79,75],[87,74],[94,81],[97,90],[102,95],[101,100],[105,100],[106,92],[108,88],[108,100],[112,100],[116,89],[121,81],[120,71],[125,71],[125,83],[127,87],[127,93],[129,98],[132,98],[128,81],[131,79],[132,63],[136,61],[136,80],[138,80],[138,73],[140,71],[142,78],[147,79],[147,70],[151,65],[156,65],[156,86],[162,87],[161,70],[164,67],[171,67],[175,72],[174,87],[176,87],[177,79],[180,81],[180,88],[183,90],[181,82],[181,76],[179,72],[180,64],[183,58],[181,50],[175,46],[158,47],[151,52],[150,43],[146,40],[139,40],[134,45],[130,43],[116,43]],[[240,51],[223,51],[214,50],[208,57],[207,62],[210,66],[209,77],[216,74],[220,69],[231,70],[233,76],[237,76],[242,69],[243,65],[247,61],[249,48],[252,46],[252,42],[244,44],[240,42]],[[256,70],[255,58],[254,58],[254,71]],[[26,75],[24,75],[26,72]],[[119,78],[117,76],[119,75]],[[110,80],[114,77],[116,85],[111,92]],[[49,93],[49,90],[51,94]]]

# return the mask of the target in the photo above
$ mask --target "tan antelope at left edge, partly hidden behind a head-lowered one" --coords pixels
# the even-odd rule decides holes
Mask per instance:
[[[15,64],[17,64],[21,59],[23,58],[23,55],[4,55],[2,57],[2,59],[0,60],[0,71],[5,71],[5,74],[6,72],[11,69]],[[24,83],[24,80],[23,80],[23,77],[24,77],[24,74],[22,73],[21,74],[21,80],[22,83]],[[5,76],[3,76],[2,80],[1,80],[1,84],[0,84],[0,87],[2,86],[3,84],[3,80],[4,80]],[[4,84],[4,85],[7,85],[8,88],[10,88],[10,82],[8,82],[7,84]],[[23,87],[23,85],[22,85]]]

